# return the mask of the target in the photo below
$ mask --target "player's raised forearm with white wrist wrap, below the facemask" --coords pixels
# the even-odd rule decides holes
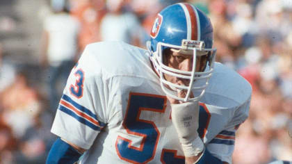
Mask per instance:
[[[220,159],[213,156],[204,146],[197,129],[199,127],[199,103],[190,101],[180,103],[168,97],[172,108],[172,124],[175,126],[181,148],[184,151],[187,164],[214,163],[222,164]]]

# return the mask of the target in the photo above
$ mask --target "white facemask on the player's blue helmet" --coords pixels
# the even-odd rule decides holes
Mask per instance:
[[[191,71],[168,67],[168,63],[165,63],[167,55],[165,52],[170,50],[193,58]],[[166,95],[179,101],[197,101],[204,95],[213,72],[216,49],[205,49],[202,41],[182,40],[181,46],[159,42],[156,51],[151,51],[151,54],[152,63],[154,63],[154,68],[160,77],[161,88]],[[198,67],[196,70],[197,58],[200,58],[200,68]],[[166,80],[165,76],[175,77],[185,83],[181,85],[172,83]],[[186,92],[184,97],[178,97],[181,90]]]

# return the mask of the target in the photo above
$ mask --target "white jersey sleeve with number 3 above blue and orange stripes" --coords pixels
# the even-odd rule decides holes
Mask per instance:
[[[87,47],[67,79],[51,128],[56,136],[83,149],[90,148],[107,122],[107,88],[100,72]]]

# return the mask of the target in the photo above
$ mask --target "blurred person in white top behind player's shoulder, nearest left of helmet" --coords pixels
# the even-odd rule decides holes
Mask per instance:
[[[136,15],[124,11],[125,0],[107,0],[108,13],[101,22],[102,40],[120,40],[140,46],[142,27]]]

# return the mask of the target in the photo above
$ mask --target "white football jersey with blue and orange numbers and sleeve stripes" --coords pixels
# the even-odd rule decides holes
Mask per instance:
[[[221,161],[232,163],[236,126],[248,117],[250,96],[245,79],[216,63],[198,132]],[[51,132],[88,149],[79,163],[184,163],[170,111],[146,50],[98,42],[72,69]]]

